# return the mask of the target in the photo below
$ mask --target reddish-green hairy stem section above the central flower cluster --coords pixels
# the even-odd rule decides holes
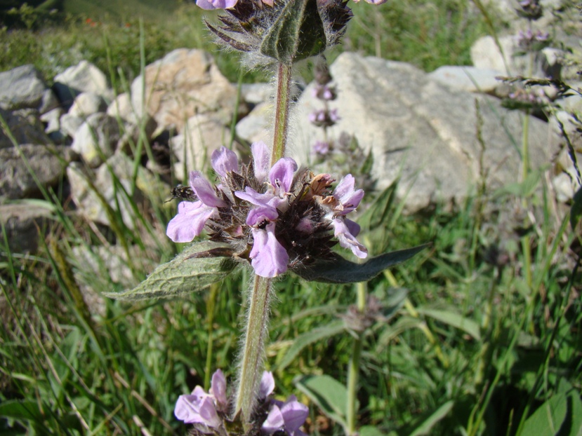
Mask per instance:
[[[291,66],[279,64],[277,73],[277,106],[275,107],[275,134],[271,165],[285,156],[287,125],[289,124],[289,101],[291,100]]]

